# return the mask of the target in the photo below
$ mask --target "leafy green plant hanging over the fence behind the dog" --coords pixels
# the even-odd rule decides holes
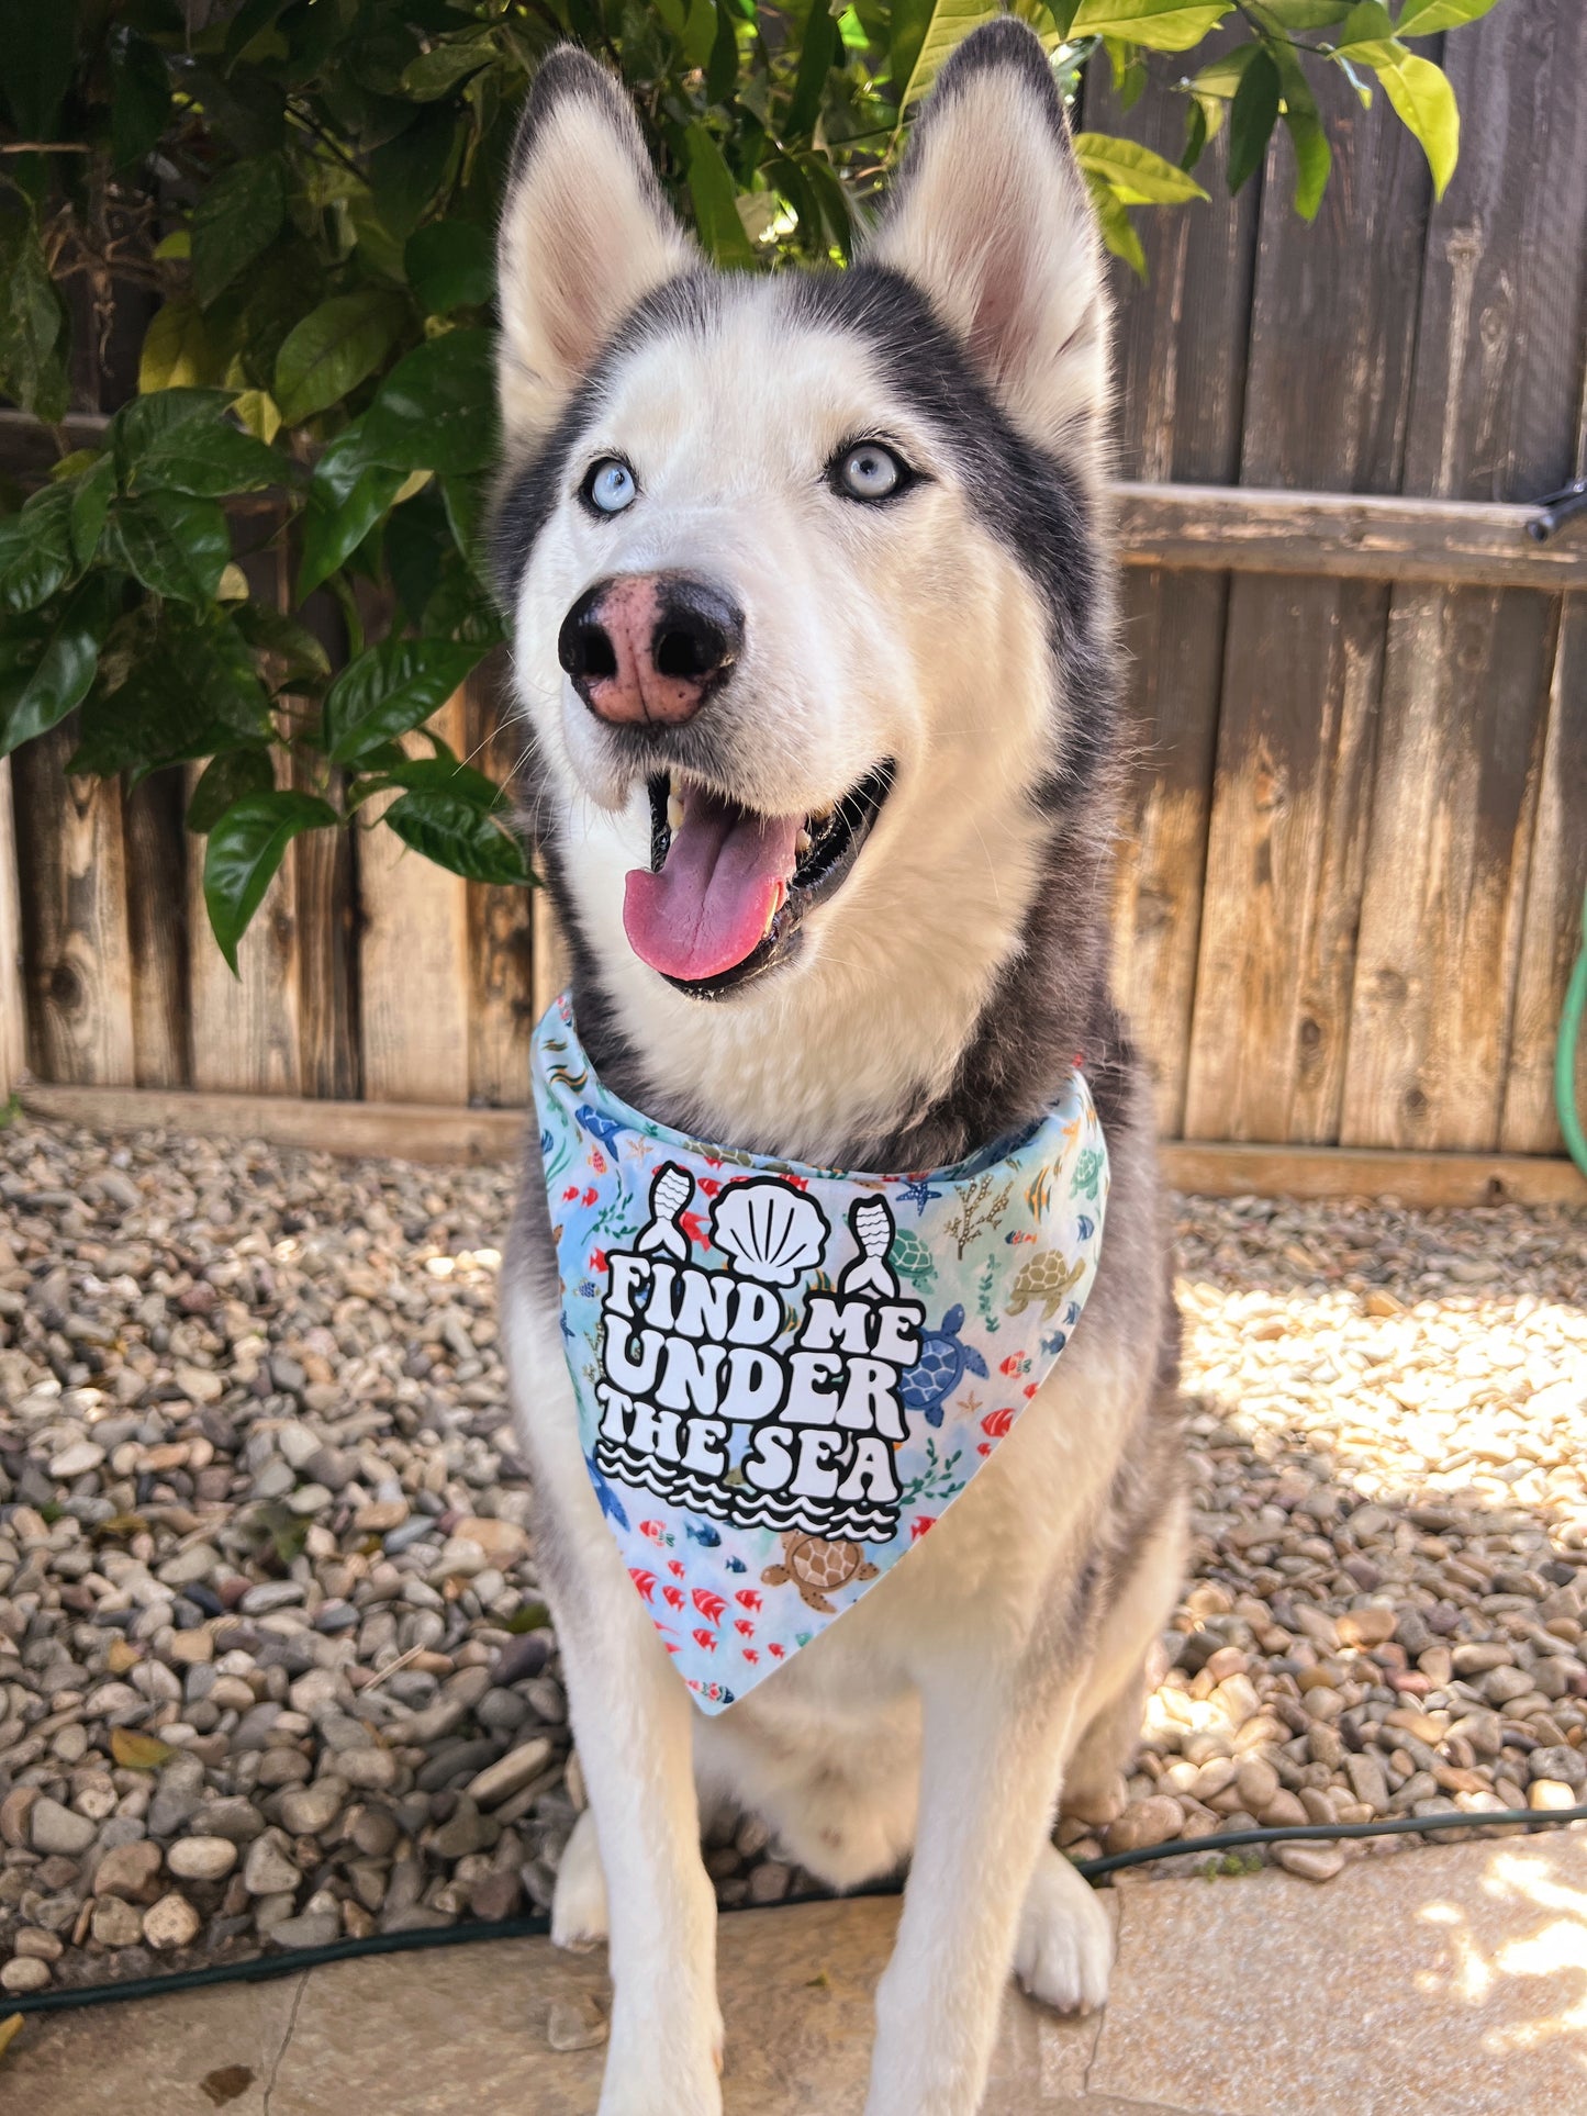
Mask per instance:
[[[1098,63],[1126,110],[1147,87],[1183,99],[1179,165],[1128,138],[1075,142],[1109,248],[1143,271],[1132,214],[1204,201],[1193,171],[1225,125],[1238,188],[1282,121],[1295,207],[1316,214],[1331,152],[1312,80],[1329,66],[1363,102],[1382,85],[1443,190],[1456,102],[1413,44],[1494,4],[1016,11],[1071,102]],[[203,764],[188,825],[233,967],[303,832],[379,815],[457,874],[531,880],[501,791],[425,722],[501,639],[478,531],[493,229],[535,66],[571,36],[618,68],[722,264],[844,262],[920,97],[995,13],[0,0],[0,391],[59,449],[0,516],[0,755],[78,713],[76,772]],[[74,339],[80,358],[144,315],[138,391],[72,446]]]

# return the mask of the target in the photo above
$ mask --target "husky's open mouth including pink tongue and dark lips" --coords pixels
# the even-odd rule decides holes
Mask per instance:
[[[715,999],[794,948],[800,920],[846,878],[893,787],[893,764],[813,815],[760,815],[679,772],[650,779],[650,868],[622,923],[635,954]]]

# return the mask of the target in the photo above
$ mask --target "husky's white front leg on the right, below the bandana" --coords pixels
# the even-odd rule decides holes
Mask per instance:
[[[927,1678],[920,1820],[897,1945],[876,1991],[865,2116],[980,2108],[1079,1674],[992,1659]],[[1075,1887],[1086,1894],[1079,1877]]]

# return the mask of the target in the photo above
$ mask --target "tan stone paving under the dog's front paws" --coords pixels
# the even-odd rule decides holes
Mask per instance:
[[[1060,2021],[1009,1989],[984,2116],[1587,2116],[1587,1837],[1109,1902],[1113,2002]],[[897,1909],[724,1917],[728,2116],[859,2116]],[[605,1955],[548,1940],[372,1957],[30,2021],[0,2110],[588,2116],[605,2010]]]

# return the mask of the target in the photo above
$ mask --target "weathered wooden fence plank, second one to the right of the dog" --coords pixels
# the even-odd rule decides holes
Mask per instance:
[[[1367,114],[1339,89],[1342,150],[1303,241],[1289,146],[1267,154],[1244,485],[1399,485],[1430,184],[1382,99]],[[1335,1134],[1384,609],[1386,590],[1356,580],[1240,573],[1229,590],[1185,1096],[1196,1138]]]

